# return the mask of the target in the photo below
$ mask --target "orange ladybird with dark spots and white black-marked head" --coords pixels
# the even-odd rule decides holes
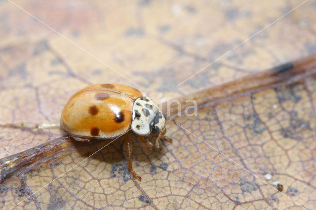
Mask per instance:
[[[132,168],[131,144],[127,131],[132,130],[150,150],[159,147],[158,139],[171,139],[166,133],[166,116],[158,105],[138,90],[120,84],[95,84],[75,93],[65,105],[60,126],[74,140],[114,139],[124,134],[128,167]],[[157,135],[155,146],[146,137]]]

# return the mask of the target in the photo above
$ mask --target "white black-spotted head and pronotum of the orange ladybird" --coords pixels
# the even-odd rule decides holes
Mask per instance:
[[[166,118],[149,97],[143,96],[135,100],[131,129],[141,136],[166,132]]]

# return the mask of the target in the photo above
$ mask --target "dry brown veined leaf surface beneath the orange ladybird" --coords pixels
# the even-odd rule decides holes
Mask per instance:
[[[131,85],[156,101],[182,95],[183,109],[194,98],[199,111],[176,119],[182,127],[170,123],[173,143],[161,150],[148,151],[131,134],[141,182],[129,174],[122,139],[89,157],[108,141],[77,142],[58,128],[1,126],[1,208],[316,206],[315,61],[251,74],[316,52],[315,1],[178,87],[301,2],[14,3],[95,57],[1,1],[2,125],[58,120],[75,91],[101,82]],[[174,105],[171,111],[176,113]],[[282,192],[275,181],[283,184]]]

